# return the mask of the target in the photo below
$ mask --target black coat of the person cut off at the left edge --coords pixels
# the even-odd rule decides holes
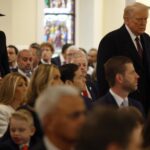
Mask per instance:
[[[0,72],[2,77],[10,72],[6,49],[6,37],[3,31],[0,31]]]

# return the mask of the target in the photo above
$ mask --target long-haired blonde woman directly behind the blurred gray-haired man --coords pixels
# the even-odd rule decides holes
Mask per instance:
[[[31,78],[27,100],[30,106],[34,106],[36,98],[48,86],[61,85],[60,71],[54,64],[40,64]]]

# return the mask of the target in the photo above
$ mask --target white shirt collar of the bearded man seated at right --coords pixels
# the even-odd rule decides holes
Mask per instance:
[[[121,107],[121,105],[124,101],[127,101],[127,103],[128,103],[128,98],[127,97],[123,99],[122,97],[117,95],[115,92],[113,92],[111,89],[109,89],[109,92],[114,97],[114,99],[115,99],[115,101],[116,101],[116,103],[119,107]]]

